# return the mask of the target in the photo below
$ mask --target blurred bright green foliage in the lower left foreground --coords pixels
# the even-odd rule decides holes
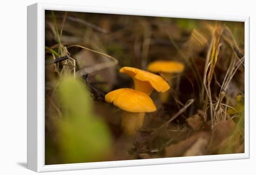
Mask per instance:
[[[58,123],[63,163],[104,161],[111,152],[106,123],[92,111],[90,94],[72,77],[59,84],[63,118]]]

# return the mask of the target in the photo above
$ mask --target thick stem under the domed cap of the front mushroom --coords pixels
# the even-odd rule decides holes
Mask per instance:
[[[135,132],[141,128],[144,122],[145,112],[123,111],[121,129],[129,136],[134,136]]]

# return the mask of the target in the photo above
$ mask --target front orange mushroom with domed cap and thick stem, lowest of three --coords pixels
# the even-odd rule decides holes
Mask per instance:
[[[105,96],[105,100],[123,110],[121,128],[130,136],[141,128],[145,112],[156,110],[154,102],[148,95],[129,88],[111,91]]]

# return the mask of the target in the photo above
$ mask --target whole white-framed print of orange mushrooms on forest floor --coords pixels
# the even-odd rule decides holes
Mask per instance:
[[[249,17],[27,7],[27,168],[249,158]]]

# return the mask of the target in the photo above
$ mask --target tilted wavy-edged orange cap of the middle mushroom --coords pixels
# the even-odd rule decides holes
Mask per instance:
[[[122,67],[120,72],[128,74],[131,78],[148,82],[158,92],[165,92],[170,89],[169,84],[161,76],[154,73],[134,67]]]

